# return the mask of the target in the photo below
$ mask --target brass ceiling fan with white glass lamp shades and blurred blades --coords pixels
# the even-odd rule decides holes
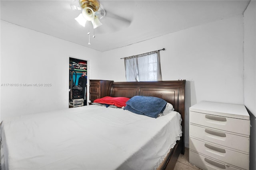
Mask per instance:
[[[70,4],[70,7],[72,10],[82,11],[75,20],[83,27],[85,27],[86,23],[89,21],[89,23],[92,23],[93,29],[98,28],[102,25],[100,20],[104,18],[104,28],[98,29],[98,32],[101,33],[114,32],[131,23],[129,19],[123,18],[113,12],[106,11],[99,0],[74,0],[72,4]],[[108,28],[108,26],[111,28]],[[87,34],[89,35],[88,44],[90,44],[90,31]],[[95,37],[95,35],[93,35],[93,37]]]

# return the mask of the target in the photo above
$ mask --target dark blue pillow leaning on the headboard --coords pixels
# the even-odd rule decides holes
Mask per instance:
[[[134,96],[126,102],[124,110],[156,118],[159,113],[164,111],[166,104],[167,102],[161,98],[152,96]]]

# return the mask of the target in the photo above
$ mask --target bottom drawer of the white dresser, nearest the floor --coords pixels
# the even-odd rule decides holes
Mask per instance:
[[[204,170],[238,170],[230,165],[206,158],[198,153],[189,150],[189,162]]]

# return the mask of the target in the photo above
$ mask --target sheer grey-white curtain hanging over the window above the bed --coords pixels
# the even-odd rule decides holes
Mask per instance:
[[[161,81],[159,51],[124,58],[126,81]]]

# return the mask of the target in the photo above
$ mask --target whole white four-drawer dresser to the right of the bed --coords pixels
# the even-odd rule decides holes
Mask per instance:
[[[203,170],[249,170],[250,116],[243,105],[189,109],[189,162]]]

